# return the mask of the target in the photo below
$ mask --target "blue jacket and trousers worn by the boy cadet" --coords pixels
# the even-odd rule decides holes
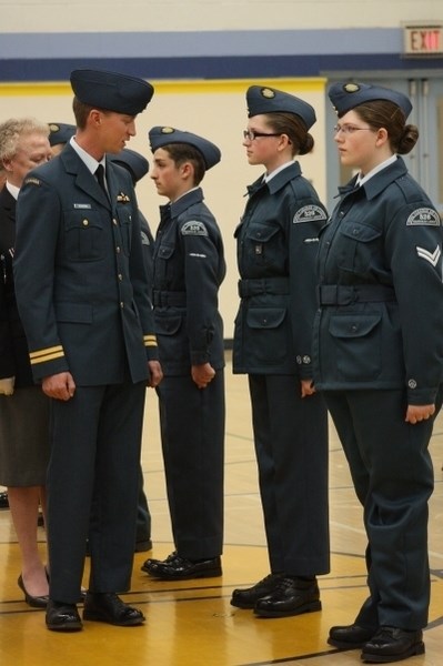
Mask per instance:
[[[153,304],[164,379],[159,386],[164,471],[175,549],[207,559],[223,547],[224,356],[218,292],[219,226],[200,188],[161,208]],[[191,365],[215,376],[200,390]]]

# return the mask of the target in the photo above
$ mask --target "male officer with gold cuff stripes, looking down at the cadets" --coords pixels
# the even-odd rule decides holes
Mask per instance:
[[[131,582],[145,385],[162,377],[135,193],[105,159],[135,135],[153,88],[94,70],[73,71],[71,85],[77,134],[27,176],[16,245],[33,374],[53,398],[47,626],[60,632],[82,628],[87,539],[83,619],[144,620],[117,593]]]

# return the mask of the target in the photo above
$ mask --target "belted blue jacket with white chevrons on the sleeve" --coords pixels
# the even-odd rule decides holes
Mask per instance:
[[[443,370],[442,226],[401,158],[341,200],[321,235],[319,389],[406,389],[435,401]]]

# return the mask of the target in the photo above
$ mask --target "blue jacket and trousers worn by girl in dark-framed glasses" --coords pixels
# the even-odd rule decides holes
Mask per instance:
[[[312,377],[318,234],[326,212],[294,162],[259,179],[235,231],[241,275],[233,371],[248,373],[272,573],[329,571],[328,417]],[[309,461],[309,463],[308,463]]]

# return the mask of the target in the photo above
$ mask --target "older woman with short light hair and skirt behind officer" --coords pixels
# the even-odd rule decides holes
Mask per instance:
[[[51,158],[47,123],[31,118],[0,124],[0,484],[21,552],[19,587],[30,606],[48,602],[47,569],[37,541],[39,505],[46,507],[49,400],[32,381],[24,332],[17,311],[12,259],[16,202],[27,173]]]

